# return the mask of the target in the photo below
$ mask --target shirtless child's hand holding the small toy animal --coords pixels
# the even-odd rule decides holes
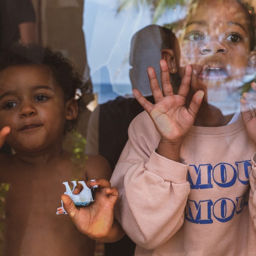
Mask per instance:
[[[95,201],[90,206],[76,208],[71,198],[63,194],[61,196],[63,206],[78,230],[94,240],[108,241],[111,236],[114,222],[114,204],[119,193],[116,188],[111,187],[109,181],[97,179],[91,181],[91,186],[98,185],[99,191],[96,192]],[[78,193],[80,188],[76,187]],[[123,231],[121,230],[121,233]],[[120,237],[121,238],[121,237]],[[114,238],[114,240],[118,240]]]

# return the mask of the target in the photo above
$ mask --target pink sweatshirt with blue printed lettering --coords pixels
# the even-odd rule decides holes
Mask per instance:
[[[193,126],[182,163],[158,155],[159,140],[139,114],[111,178],[120,192],[115,217],[135,255],[255,256],[256,146],[242,119]]]

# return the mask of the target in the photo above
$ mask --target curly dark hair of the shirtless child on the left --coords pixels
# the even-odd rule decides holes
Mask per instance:
[[[53,71],[54,78],[64,92],[64,101],[74,98],[76,89],[80,89],[82,95],[92,92],[91,84],[84,82],[74,64],[63,56],[61,52],[53,51],[49,47],[39,45],[21,44],[15,45],[10,49],[0,49],[0,71],[10,66],[16,65],[45,65]],[[74,120],[66,120],[64,134],[75,128],[79,116],[85,110],[86,103],[83,97],[78,100],[78,117]]]

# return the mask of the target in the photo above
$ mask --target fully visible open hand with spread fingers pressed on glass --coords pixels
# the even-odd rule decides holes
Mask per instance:
[[[148,68],[150,88],[155,104],[147,101],[136,89],[133,90],[133,94],[153,120],[162,140],[181,144],[194,123],[204,92],[202,90],[197,91],[187,108],[186,97],[191,81],[191,66],[186,66],[177,95],[173,92],[168,66],[163,59],[160,60],[160,69],[162,91],[159,87],[155,70],[152,67]]]

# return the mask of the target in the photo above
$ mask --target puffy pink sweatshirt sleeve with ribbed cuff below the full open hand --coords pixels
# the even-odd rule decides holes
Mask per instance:
[[[111,178],[120,193],[115,217],[136,244],[154,249],[183,224],[188,165],[155,152],[160,135],[146,112],[134,119],[128,134]]]

